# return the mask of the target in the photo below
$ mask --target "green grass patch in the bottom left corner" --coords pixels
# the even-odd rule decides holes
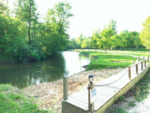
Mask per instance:
[[[0,85],[0,113],[56,113],[39,110],[33,98],[10,85]]]

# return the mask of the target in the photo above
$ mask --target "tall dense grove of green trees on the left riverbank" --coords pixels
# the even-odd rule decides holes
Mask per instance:
[[[67,48],[68,18],[73,14],[67,2],[49,9],[40,22],[35,0],[18,0],[10,11],[0,2],[0,55],[20,61],[41,60]],[[15,15],[15,16],[11,16]]]

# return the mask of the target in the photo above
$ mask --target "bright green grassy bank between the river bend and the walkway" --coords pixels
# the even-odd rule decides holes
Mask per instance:
[[[79,51],[79,50],[78,50]],[[137,58],[119,54],[103,53],[103,52],[93,52],[93,51],[79,51],[83,54],[88,54],[89,56],[96,57],[97,60],[92,60],[89,64],[87,70],[92,69],[108,69],[108,68],[118,68],[127,67],[131,65],[133,60]]]

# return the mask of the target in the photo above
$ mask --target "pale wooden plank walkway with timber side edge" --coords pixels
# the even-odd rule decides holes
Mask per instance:
[[[109,106],[111,106],[121,95],[131,89],[147,72],[149,63],[146,67],[141,63],[138,64],[138,74],[136,74],[136,66],[131,66],[131,80],[129,80],[128,68],[126,70],[111,76],[103,81],[96,83],[96,85],[109,84],[113,81],[118,81],[106,85],[96,87],[97,99],[94,102],[94,112],[103,113]],[[123,76],[124,75],[124,76]],[[68,100],[62,101],[62,113],[88,113],[88,90],[83,89],[68,97]]]

